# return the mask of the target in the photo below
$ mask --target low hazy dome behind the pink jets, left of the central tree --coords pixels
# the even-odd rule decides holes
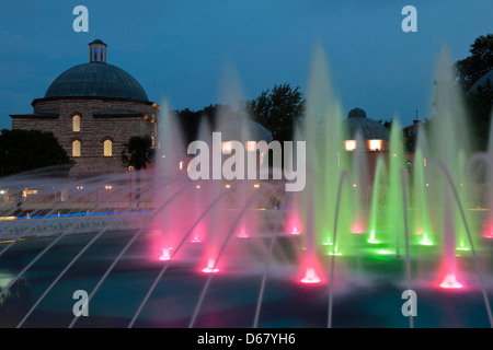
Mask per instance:
[[[271,131],[256,121],[250,119],[237,119],[220,125],[216,132],[221,132],[222,141],[265,141],[273,140]]]

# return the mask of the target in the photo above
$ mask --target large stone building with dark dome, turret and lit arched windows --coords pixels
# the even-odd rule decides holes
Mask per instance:
[[[157,133],[159,105],[139,82],[106,63],[107,45],[89,44],[90,60],[58,75],[33,114],[11,115],[12,129],[51,131],[76,165],[71,176],[124,172],[121,153],[133,136]]]

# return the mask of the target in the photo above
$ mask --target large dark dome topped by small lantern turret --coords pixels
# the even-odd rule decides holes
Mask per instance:
[[[53,81],[47,97],[117,97],[149,101],[139,82],[123,69],[106,63],[106,47],[100,39],[89,44],[90,62],[74,66]]]

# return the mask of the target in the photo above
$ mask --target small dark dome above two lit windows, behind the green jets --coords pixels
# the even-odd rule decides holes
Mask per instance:
[[[362,108],[349,110],[346,124],[349,138],[353,140],[358,132],[364,140],[389,140],[389,130],[377,120],[368,118]]]

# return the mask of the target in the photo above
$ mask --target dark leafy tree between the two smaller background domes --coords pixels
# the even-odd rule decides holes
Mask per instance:
[[[305,112],[305,97],[297,86],[289,83],[274,85],[272,90],[263,91],[259,97],[245,103],[257,121],[272,132],[275,140],[293,140],[294,129]]]

